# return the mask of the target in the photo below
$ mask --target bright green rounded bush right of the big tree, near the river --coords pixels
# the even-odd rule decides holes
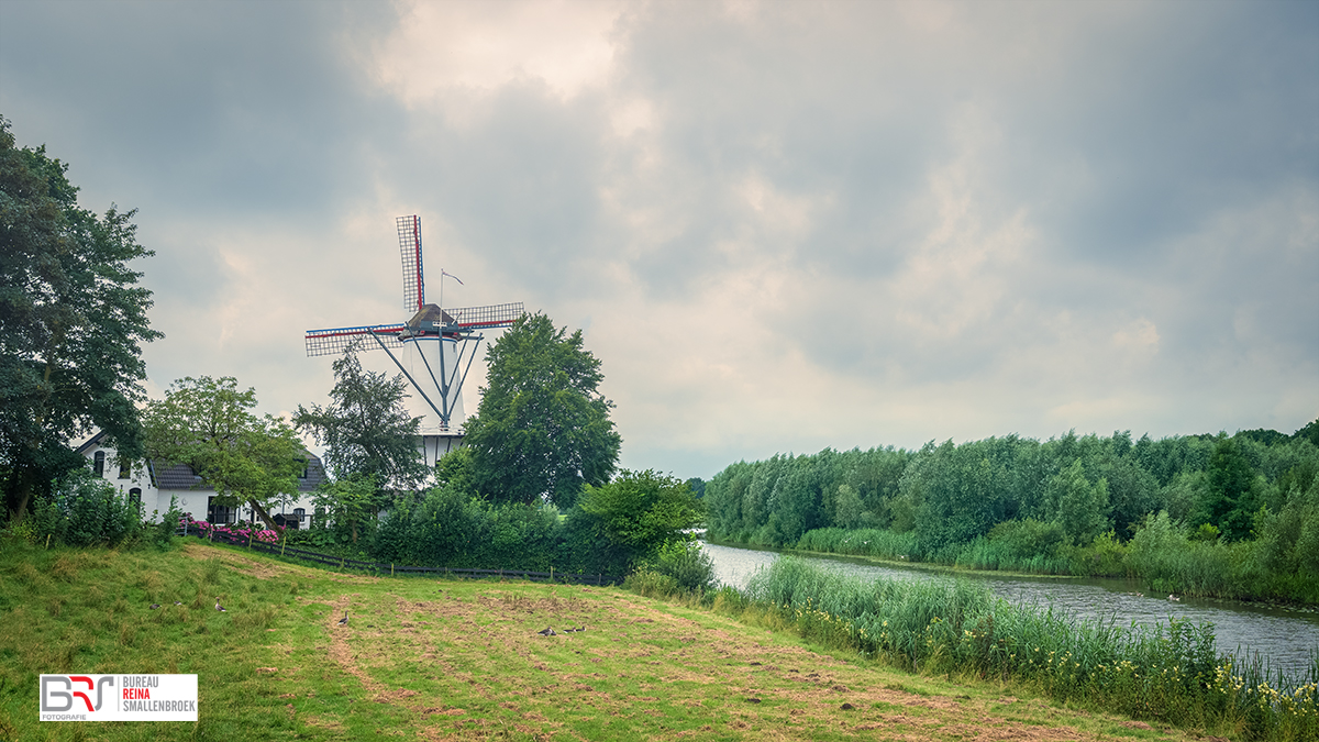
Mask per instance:
[[[633,562],[654,560],[665,547],[694,540],[689,529],[704,515],[686,482],[653,470],[624,470],[608,485],[587,485],[578,510],[575,518],[625,549]]]

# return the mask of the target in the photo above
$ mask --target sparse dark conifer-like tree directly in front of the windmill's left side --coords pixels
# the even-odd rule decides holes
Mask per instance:
[[[404,405],[402,375],[363,370],[348,349],[334,362],[334,376],[331,403],[311,409],[299,404],[293,424],[326,446],[324,462],[335,478],[364,477],[394,491],[418,487],[427,475],[417,454],[421,419]]]

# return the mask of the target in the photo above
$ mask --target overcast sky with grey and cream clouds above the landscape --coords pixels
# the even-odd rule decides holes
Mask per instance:
[[[323,403],[418,214],[632,469],[1319,416],[1319,3],[4,0],[0,115],[138,210],[156,396]]]

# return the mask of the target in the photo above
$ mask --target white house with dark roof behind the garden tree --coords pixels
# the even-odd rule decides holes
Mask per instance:
[[[153,461],[145,465],[120,461],[115,449],[104,445],[104,433],[96,433],[78,446],[78,453],[91,462],[91,469],[98,477],[115,485],[124,496],[142,503],[142,511],[149,519],[160,522],[169,511],[170,498],[175,498],[179,511],[191,514],[194,520],[219,524],[253,519],[252,508],[247,507],[247,503],[239,507],[214,503],[215,490],[191,467],[166,466]],[[303,455],[307,466],[298,477],[298,491],[282,496],[269,508],[270,518],[276,523],[284,523],[290,528],[306,528],[311,523],[311,514],[315,512],[311,491],[326,479],[321,459],[310,452],[303,452]]]

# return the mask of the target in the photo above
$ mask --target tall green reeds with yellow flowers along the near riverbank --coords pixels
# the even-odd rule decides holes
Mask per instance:
[[[732,603],[720,595],[719,603]],[[1115,626],[1013,606],[960,580],[867,581],[783,557],[752,578],[743,610],[803,636],[927,673],[1022,681],[1059,701],[1253,739],[1319,739],[1319,654],[1308,677],[1219,655],[1213,627]]]

